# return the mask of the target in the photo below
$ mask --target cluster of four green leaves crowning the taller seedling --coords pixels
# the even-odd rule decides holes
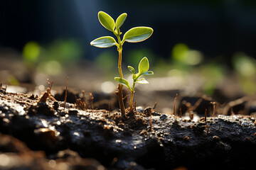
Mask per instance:
[[[110,30],[114,33],[114,35],[120,35],[119,28],[123,25],[124,21],[127,18],[127,13],[122,13],[117,21],[114,23],[114,19],[108,15],[107,13],[100,11],[98,13],[98,18],[102,26],[104,26],[107,30]],[[127,42],[142,42],[149,38],[153,33],[153,29],[149,27],[134,27],[124,33],[124,37],[122,40],[122,44]],[[93,40],[91,45],[100,48],[112,47],[114,45],[118,45],[116,40],[111,36],[105,36],[101,38],[97,38]]]

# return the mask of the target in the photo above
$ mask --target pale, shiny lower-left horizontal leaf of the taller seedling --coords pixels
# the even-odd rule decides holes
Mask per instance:
[[[90,42],[90,45],[95,46],[95,47],[100,47],[100,48],[106,48],[106,47],[112,47],[116,45],[117,42],[114,40],[114,38],[110,36],[105,36],[101,38],[97,38]]]

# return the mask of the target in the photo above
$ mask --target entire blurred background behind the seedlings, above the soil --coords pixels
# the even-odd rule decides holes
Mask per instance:
[[[203,93],[220,102],[255,94],[254,0],[1,0],[0,82],[26,86],[21,92],[30,85],[43,91],[50,81],[65,86],[69,77],[75,89],[113,93],[117,49],[90,46],[95,38],[114,36],[101,26],[98,11],[114,20],[126,12],[122,33],[154,28],[151,38],[125,42],[123,50],[127,78],[127,65],[137,68],[149,58],[154,77],[137,91],[149,95],[150,104],[161,94],[168,101],[176,93]]]

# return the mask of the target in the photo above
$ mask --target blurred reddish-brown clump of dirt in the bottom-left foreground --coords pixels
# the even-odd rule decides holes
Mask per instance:
[[[95,159],[84,159],[77,152],[66,149],[48,158],[43,151],[32,151],[11,135],[0,133],[0,169],[98,169],[105,167]]]

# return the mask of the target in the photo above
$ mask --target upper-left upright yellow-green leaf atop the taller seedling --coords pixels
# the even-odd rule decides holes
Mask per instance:
[[[98,18],[102,26],[107,28],[107,30],[114,31],[114,19],[107,13],[100,11],[98,13]]]

